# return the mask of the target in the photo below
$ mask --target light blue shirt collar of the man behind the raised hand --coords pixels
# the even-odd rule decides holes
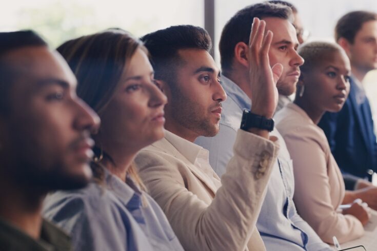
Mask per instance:
[[[241,110],[250,109],[251,100],[246,93],[226,76],[222,75],[221,80],[228,98],[232,99]]]

